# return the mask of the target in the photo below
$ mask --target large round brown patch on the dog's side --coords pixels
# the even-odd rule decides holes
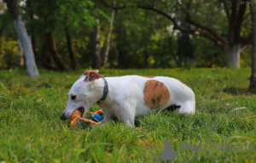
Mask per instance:
[[[170,98],[170,92],[165,84],[155,80],[146,82],[143,93],[144,103],[151,110],[167,104]]]

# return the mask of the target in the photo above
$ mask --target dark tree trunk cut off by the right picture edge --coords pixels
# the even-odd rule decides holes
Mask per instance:
[[[253,31],[253,61],[252,61],[252,76],[250,78],[249,91],[256,93],[256,9],[254,1],[250,1],[250,11],[252,20],[252,31]]]

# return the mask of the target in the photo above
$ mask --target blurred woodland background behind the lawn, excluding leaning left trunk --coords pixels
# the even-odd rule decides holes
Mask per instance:
[[[251,16],[241,0],[16,1],[40,69],[250,67]],[[0,0],[0,69],[26,63]]]

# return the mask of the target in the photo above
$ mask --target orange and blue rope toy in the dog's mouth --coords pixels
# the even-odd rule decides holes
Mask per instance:
[[[82,118],[82,112],[80,112],[79,110],[74,110],[70,117],[70,124],[71,126],[81,126],[81,122],[85,121],[87,123],[90,123],[91,125],[97,125],[97,122],[102,121],[102,115],[102,110],[97,110],[95,113],[90,112],[89,118],[94,120],[91,121],[90,119]]]

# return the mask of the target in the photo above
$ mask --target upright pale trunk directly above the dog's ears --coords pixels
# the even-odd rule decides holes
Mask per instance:
[[[97,25],[94,28],[94,31],[92,32],[92,68],[99,69],[102,66],[102,58],[101,58],[101,26],[100,26],[100,20],[96,20]]]

